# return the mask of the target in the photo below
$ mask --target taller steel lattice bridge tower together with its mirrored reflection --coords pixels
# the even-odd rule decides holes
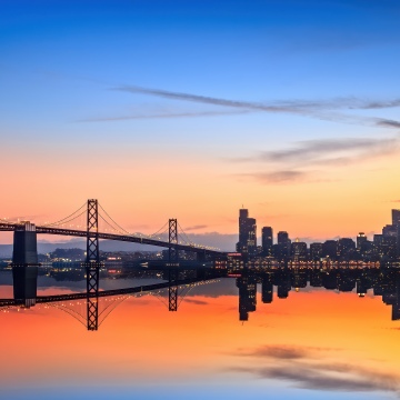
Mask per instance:
[[[96,199],[88,200],[87,218],[87,318],[88,330],[94,331],[99,328],[99,208]]]

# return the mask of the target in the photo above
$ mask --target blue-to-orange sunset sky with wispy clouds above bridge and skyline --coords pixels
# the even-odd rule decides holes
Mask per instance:
[[[379,233],[400,208],[397,0],[0,0],[0,217]],[[0,237],[11,242],[10,234]]]

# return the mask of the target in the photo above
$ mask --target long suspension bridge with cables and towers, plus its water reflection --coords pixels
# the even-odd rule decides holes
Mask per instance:
[[[86,214],[86,229],[71,229],[68,223]],[[101,232],[99,230],[99,221],[104,221],[113,232]],[[66,228],[67,226],[67,228]],[[169,290],[169,310],[178,309],[178,287],[179,284],[190,284],[204,280],[204,277],[196,277],[194,280],[182,280],[179,269],[179,252],[190,251],[197,254],[198,261],[204,261],[207,258],[224,257],[226,253],[204,246],[192,243],[182,229],[178,232],[177,219],[169,219],[168,222],[152,236],[141,233],[130,233],[121,228],[101,207],[97,199],[89,199],[78,210],[66,218],[41,226],[36,226],[30,221],[12,222],[7,220],[0,221],[0,231],[13,231],[13,252],[12,252],[12,274],[13,274],[13,300],[0,300],[0,307],[11,307],[18,303],[29,301],[37,302],[54,302],[62,300],[87,300],[87,327],[88,330],[98,329],[98,300],[104,296],[122,294],[126,289],[120,289],[114,293],[106,293],[99,290],[99,276],[102,263],[100,262],[100,240],[116,240],[124,242],[133,242],[140,244],[149,244],[168,249],[168,260],[164,263],[168,272],[168,282],[158,283],[148,288],[139,287],[129,289],[132,293],[143,290],[154,290],[168,288]],[[87,251],[86,260],[82,268],[86,270],[87,291],[86,293],[74,293],[61,297],[37,297],[37,279],[38,279],[38,234],[59,234],[69,237],[86,238]],[[168,234],[168,240],[163,236]],[[182,240],[183,239],[183,240]],[[128,290],[128,291],[129,291]]]

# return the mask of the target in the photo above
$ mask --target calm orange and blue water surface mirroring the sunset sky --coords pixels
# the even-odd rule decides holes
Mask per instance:
[[[177,312],[168,288],[100,298],[97,331],[87,330],[86,300],[3,310],[1,398],[398,398],[397,271],[241,274],[181,286]],[[10,276],[0,273],[1,298],[12,297]],[[83,290],[39,278],[38,296]]]

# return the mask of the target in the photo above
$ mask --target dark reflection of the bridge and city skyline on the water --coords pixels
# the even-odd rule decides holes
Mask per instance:
[[[133,270],[141,274],[143,271]],[[74,272],[81,277],[82,271]],[[99,288],[100,271],[96,276]],[[213,269],[213,268],[164,268],[163,270],[146,271],[148,277],[158,280],[157,283],[140,284],[123,289],[93,290],[88,282],[93,279],[93,272],[87,271],[87,291],[70,294],[37,296],[38,267],[13,267],[13,299],[1,299],[0,308],[31,308],[38,303],[68,302],[86,300],[87,329],[98,330],[99,298],[112,299],[134,293],[158,296],[167,293],[169,311],[178,311],[182,301],[182,289],[192,288],[199,282],[212,283],[216,279],[234,279],[239,298],[239,321],[248,321],[249,313],[257,310],[258,286],[261,288],[262,303],[271,303],[273,297],[287,299],[291,290],[312,290],[324,288],[337,292],[351,292],[363,298],[368,290],[373,296],[381,296],[383,303],[391,306],[391,319],[400,320],[400,270],[396,268],[310,268],[294,266],[278,269]],[[71,278],[73,273],[69,272]],[[62,277],[59,279],[62,280]],[[72,277],[73,279],[73,277]],[[276,288],[276,289],[274,289]],[[163,290],[167,290],[163,291]]]

